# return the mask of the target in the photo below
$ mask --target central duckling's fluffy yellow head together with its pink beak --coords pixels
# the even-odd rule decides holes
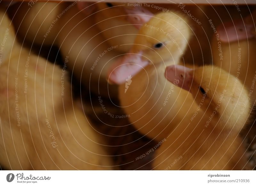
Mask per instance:
[[[173,64],[180,61],[190,38],[187,19],[180,13],[161,12],[140,27],[129,54],[109,70],[109,81],[125,82],[148,65]]]

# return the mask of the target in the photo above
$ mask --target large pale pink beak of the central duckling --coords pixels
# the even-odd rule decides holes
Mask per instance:
[[[127,79],[131,79],[138,74],[145,66],[149,64],[148,61],[142,60],[142,52],[137,54],[125,54],[110,67],[108,70],[108,82],[110,84],[123,84]]]

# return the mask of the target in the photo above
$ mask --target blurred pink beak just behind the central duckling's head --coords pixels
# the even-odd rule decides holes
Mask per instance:
[[[154,16],[153,13],[143,7],[134,7],[132,9],[124,8],[124,11],[128,14],[126,16],[127,21],[133,24],[137,29],[140,29],[142,25],[147,23],[152,16]]]

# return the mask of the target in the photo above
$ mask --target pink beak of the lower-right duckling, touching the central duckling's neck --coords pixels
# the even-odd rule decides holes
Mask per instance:
[[[171,65],[166,67],[164,75],[174,85],[189,91],[193,80],[193,76],[189,73],[191,71],[191,68],[185,66]]]

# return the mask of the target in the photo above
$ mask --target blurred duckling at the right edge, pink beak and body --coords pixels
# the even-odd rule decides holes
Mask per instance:
[[[239,13],[235,6],[210,9],[208,7],[207,12],[216,27],[211,41],[213,64],[244,82],[247,89],[252,91],[251,99],[255,102],[256,91],[253,90],[253,84],[256,78],[256,39],[252,19],[253,16],[255,18],[255,12],[251,14],[247,6],[241,6]],[[218,16],[220,13],[223,14],[221,19]]]

